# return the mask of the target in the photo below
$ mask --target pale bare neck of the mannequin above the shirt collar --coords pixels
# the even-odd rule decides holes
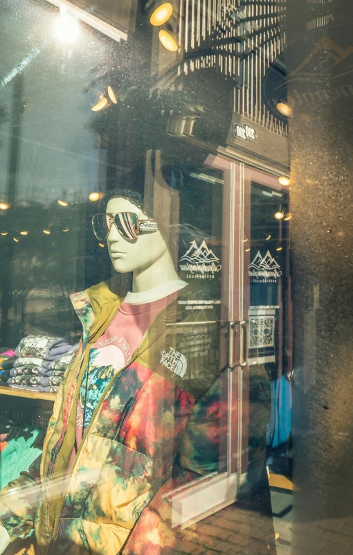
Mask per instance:
[[[175,271],[172,256],[168,250],[152,265],[134,270],[132,276],[132,292],[141,293],[159,287],[168,281],[179,279]]]

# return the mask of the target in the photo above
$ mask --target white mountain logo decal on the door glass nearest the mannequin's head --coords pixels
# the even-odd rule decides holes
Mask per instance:
[[[202,277],[206,277],[208,276],[207,274],[212,274],[213,276],[213,274],[220,272],[221,264],[219,263],[219,258],[207,246],[205,240],[202,241],[200,246],[194,240],[188,251],[181,257],[179,268],[184,272],[190,272],[190,277],[194,277],[193,274],[200,274]]]

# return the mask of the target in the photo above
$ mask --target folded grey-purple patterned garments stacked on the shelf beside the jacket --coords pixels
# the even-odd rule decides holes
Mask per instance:
[[[28,335],[19,342],[8,385],[56,393],[78,344],[65,337]]]

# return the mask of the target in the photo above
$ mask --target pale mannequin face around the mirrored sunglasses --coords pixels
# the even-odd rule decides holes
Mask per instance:
[[[107,204],[107,213],[134,212],[141,220],[147,216],[125,198],[112,198]],[[138,238],[128,241],[122,237],[115,225],[111,226],[107,238],[109,256],[116,272],[125,274],[152,266],[168,253],[168,247],[160,231],[141,231]]]

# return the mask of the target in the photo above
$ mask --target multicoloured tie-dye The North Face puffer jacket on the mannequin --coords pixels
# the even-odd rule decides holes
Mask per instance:
[[[71,297],[82,340],[55,400],[40,470],[33,464],[0,493],[0,522],[12,540],[34,528],[39,555],[179,551],[171,499],[224,469],[219,444],[226,441],[228,417],[219,330],[207,323],[206,310],[185,308],[187,289],[109,382],[68,471],[89,349],[121,301],[109,282]],[[259,380],[264,436],[271,402],[266,378]],[[264,452],[261,438],[256,450]]]

